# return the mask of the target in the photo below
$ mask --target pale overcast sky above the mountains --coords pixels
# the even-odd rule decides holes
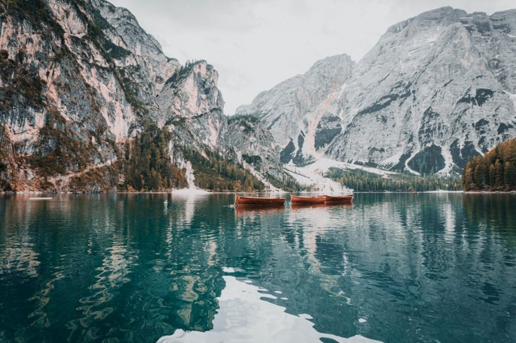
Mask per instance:
[[[345,53],[359,61],[389,26],[421,12],[516,7],[514,0],[110,1],[133,12],[167,56],[213,64],[228,115],[318,59]]]

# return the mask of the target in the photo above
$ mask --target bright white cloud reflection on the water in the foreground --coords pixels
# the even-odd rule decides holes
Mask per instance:
[[[225,288],[218,298],[219,309],[213,320],[213,329],[206,332],[185,332],[178,329],[164,336],[158,343],[174,342],[317,342],[321,337],[337,342],[376,342],[357,335],[343,338],[319,333],[309,315],[295,316],[285,307],[263,298],[275,296],[263,293],[265,289],[224,276]]]

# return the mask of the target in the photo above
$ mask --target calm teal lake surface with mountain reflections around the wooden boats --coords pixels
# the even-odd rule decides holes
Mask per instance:
[[[516,341],[514,194],[34,196],[0,196],[0,341]]]

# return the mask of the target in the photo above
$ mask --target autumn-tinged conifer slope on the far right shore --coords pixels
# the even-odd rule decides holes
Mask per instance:
[[[467,162],[462,186],[464,191],[516,190],[516,138]]]

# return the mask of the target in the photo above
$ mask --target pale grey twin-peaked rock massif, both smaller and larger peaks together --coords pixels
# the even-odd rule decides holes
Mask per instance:
[[[516,10],[439,8],[390,27],[356,67],[344,56],[319,61],[237,113],[261,118],[284,148],[283,162],[304,163],[302,150],[460,173],[473,156],[516,136],[515,56]]]

